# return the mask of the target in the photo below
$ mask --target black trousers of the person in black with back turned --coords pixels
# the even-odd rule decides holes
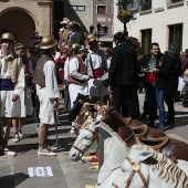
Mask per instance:
[[[139,117],[136,85],[116,85],[113,90],[113,106],[123,117]]]

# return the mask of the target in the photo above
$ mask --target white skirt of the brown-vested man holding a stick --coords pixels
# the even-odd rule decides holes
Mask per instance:
[[[40,102],[40,114],[39,114],[40,122],[42,124],[53,125],[55,123],[53,102],[48,98],[48,93],[45,87],[39,90],[38,97]]]

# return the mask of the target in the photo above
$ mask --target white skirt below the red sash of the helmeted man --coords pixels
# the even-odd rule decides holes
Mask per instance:
[[[88,95],[90,96],[105,96],[107,94],[108,94],[108,90],[103,84],[101,79],[88,80]]]

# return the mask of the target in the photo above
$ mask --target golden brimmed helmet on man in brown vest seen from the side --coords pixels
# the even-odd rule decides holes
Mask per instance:
[[[58,41],[54,40],[53,36],[46,35],[42,39],[39,48],[45,50],[45,49],[51,49],[55,45],[58,45]]]

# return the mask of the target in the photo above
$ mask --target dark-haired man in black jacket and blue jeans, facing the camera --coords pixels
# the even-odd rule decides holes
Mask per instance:
[[[149,109],[150,127],[155,127],[156,103],[159,112],[159,127],[164,132],[165,128],[165,90],[170,75],[170,62],[167,55],[160,53],[159,44],[152,43],[150,53],[144,56],[144,66],[142,69],[145,73],[145,88],[146,98]]]

